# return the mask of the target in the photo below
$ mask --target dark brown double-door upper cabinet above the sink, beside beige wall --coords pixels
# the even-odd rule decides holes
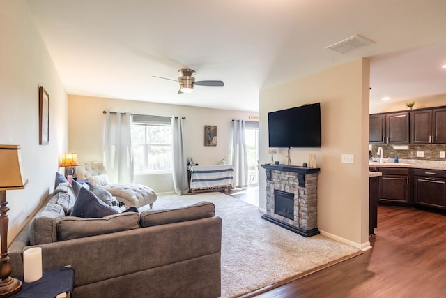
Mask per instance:
[[[409,144],[409,112],[371,114],[370,144]]]

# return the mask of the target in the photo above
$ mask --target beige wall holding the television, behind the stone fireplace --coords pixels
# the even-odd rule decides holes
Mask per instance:
[[[369,61],[359,59],[294,80],[260,93],[260,156],[268,163],[268,112],[321,103],[322,147],[291,149],[291,164],[302,165],[316,154],[318,228],[330,237],[369,248],[368,131]],[[364,133],[365,132],[365,133]],[[286,149],[275,156],[286,163]],[[341,154],[354,154],[355,163],[341,163]],[[259,206],[265,208],[265,172],[259,179]]]

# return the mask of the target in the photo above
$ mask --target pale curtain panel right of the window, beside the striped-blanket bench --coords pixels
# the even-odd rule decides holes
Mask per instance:
[[[177,195],[186,195],[189,192],[187,182],[187,161],[184,148],[183,118],[171,117],[172,123],[172,162],[174,188]]]

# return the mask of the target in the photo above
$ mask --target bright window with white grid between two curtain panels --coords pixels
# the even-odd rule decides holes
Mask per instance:
[[[132,149],[135,174],[172,169],[170,117],[133,115]]]

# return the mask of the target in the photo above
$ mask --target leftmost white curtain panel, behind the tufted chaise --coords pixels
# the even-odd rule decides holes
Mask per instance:
[[[113,183],[133,182],[132,115],[130,113],[107,113],[104,167]]]

